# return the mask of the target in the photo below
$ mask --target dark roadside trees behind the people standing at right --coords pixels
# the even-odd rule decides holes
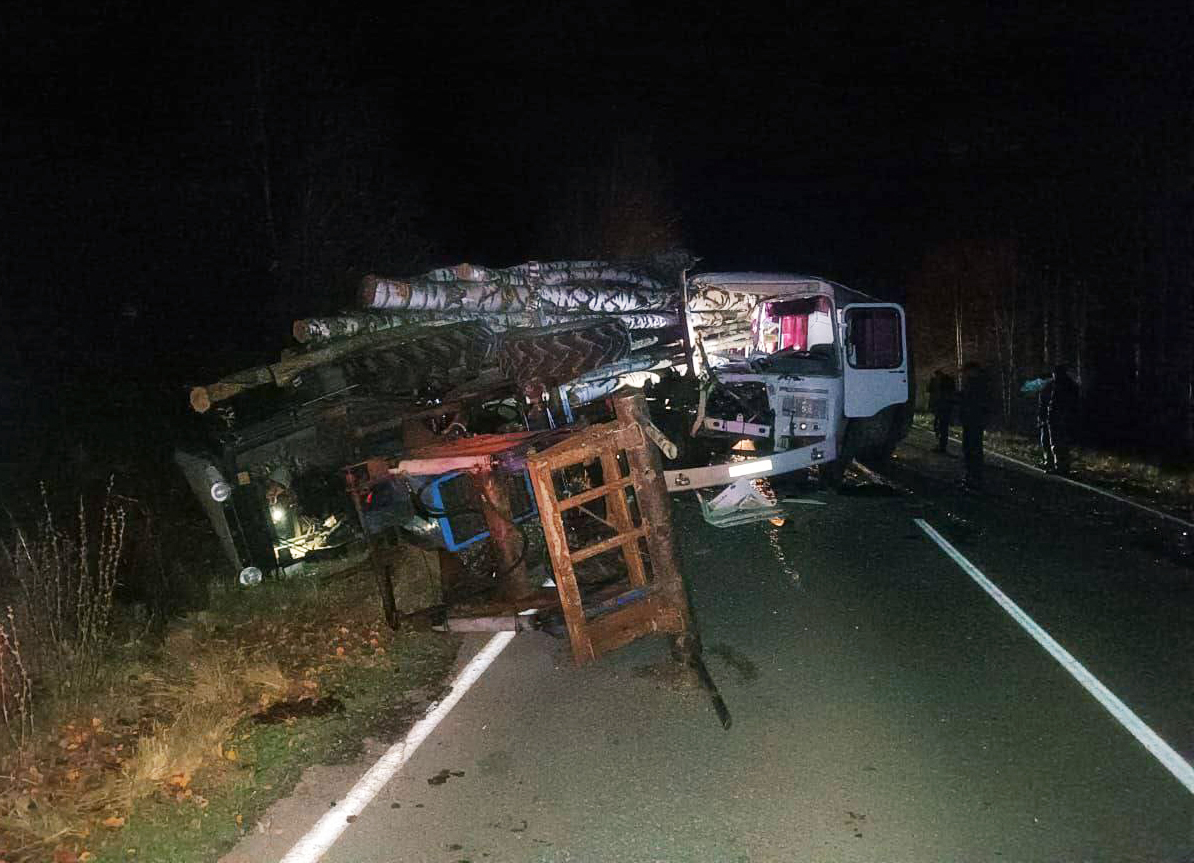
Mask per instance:
[[[977,359],[1004,424],[1033,419],[1020,386],[1066,364],[1088,443],[1184,460],[1194,445],[1194,160],[1190,117],[1121,135],[1097,169],[1034,178],[980,229],[936,241],[910,284],[925,374]],[[985,228],[985,230],[983,230]]]

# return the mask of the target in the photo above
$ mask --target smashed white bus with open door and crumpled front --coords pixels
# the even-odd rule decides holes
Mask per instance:
[[[911,420],[904,310],[819,278],[704,273],[688,279],[696,372],[693,423],[703,446],[667,471],[675,492],[796,470],[827,485],[853,458],[891,454]],[[719,328],[731,307],[750,327]]]

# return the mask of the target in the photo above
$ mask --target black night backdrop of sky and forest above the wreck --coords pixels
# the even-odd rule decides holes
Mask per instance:
[[[168,445],[187,386],[275,355],[362,272],[675,246],[905,302],[921,377],[984,362],[1022,429],[1018,384],[1067,363],[1089,443],[1181,461],[1188,17],[23,8],[0,140],[2,461]]]

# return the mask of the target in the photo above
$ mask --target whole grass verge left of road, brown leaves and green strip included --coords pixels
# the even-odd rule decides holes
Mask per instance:
[[[0,863],[216,859],[303,768],[400,735],[456,647],[388,630],[364,572],[217,594],[10,754]]]

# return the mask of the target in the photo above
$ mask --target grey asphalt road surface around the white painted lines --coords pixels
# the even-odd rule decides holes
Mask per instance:
[[[1194,859],[1194,795],[913,518],[1187,759],[1189,537],[993,466],[968,494],[958,467],[916,434],[885,469],[894,489],[782,528],[708,528],[679,500],[733,728],[659,641],[577,670],[565,643],[521,635],[325,859]],[[314,775],[226,859],[279,859],[352,779]]]

